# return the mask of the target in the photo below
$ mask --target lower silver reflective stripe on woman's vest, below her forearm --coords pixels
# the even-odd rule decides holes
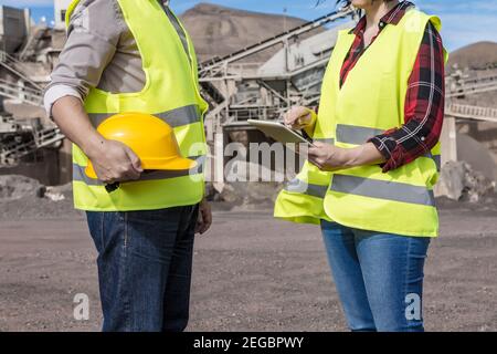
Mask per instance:
[[[363,196],[377,199],[387,199],[435,206],[433,190],[396,181],[384,181],[357,176],[334,175],[330,189],[338,192]]]

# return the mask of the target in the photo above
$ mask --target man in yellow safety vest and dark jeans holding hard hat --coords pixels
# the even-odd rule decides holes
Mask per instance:
[[[66,23],[67,42],[44,101],[74,143],[74,201],[87,214],[98,251],[103,330],[183,331],[194,233],[212,220],[202,174],[208,105],[191,39],[160,0],[75,0]],[[146,117],[142,125],[150,116],[166,122],[165,132],[173,129],[180,155],[195,168],[146,174],[142,156],[97,131],[130,113]],[[140,122],[123,128],[136,131]],[[115,183],[116,190],[106,188]]]

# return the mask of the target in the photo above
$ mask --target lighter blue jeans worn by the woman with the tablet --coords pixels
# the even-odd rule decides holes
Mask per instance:
[[[423,332],[423,268],[430,238],[321,221],[326,251],[350,330]]]

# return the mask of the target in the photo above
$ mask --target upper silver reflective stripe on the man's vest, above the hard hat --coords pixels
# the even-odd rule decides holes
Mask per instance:
[[[114,113],[89,113],[89,119],[92,121],[93,126],[97,127],[104,121],[113,116]],[[201,121],[201,112],[198,105],[189,105],[184,107],[179,107],[165,113],[152,114],[154,116],[162,119],[171,127],[176,128],[179,126],[198,123]]]

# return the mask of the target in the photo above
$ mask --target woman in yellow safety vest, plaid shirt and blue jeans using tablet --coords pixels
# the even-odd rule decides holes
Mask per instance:
[[[409,1],[345,4],[364,15],[339,32],[318,114],[299,106],[285,116],[315,147],[275,217],[320,225],[352,331],[423,331],[424,260],[438,235],[441,21]]]

